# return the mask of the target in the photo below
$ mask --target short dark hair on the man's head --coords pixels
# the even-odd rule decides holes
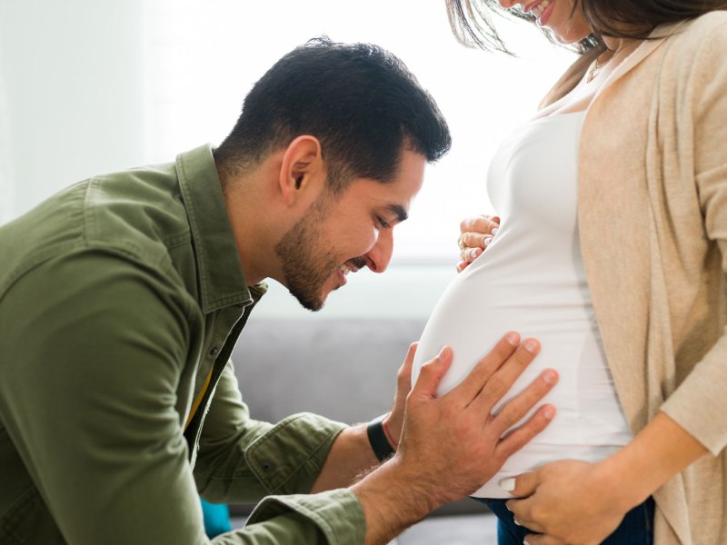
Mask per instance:
[[[214,150],[223,182],[301,134],[321,142],[336,194],[354,178],[392,181],[404,149],[433,162],[452,145],[432,96],[400,59],[377,45],[327,37],[296,47],[254,84]]]

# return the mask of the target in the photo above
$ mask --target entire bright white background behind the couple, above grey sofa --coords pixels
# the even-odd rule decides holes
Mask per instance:
[[[316,317],[424,318],[453,277],[458,220],[490,210],[490,154],[571,62],[523,28],[513,60],[456,44],[442,1],[0,0],[0,223],[86,176],[219,142],[249,86],[314,35],[371,41],[433,93],[453,151],[397,227],[390,270],[352,275]],[[274,282],[256,311],[307,313]]]

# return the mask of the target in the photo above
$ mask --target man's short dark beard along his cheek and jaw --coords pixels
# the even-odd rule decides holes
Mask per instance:
[[[329,208],[330,197],[322,196],[275,244],[275,253],[283,264],[285,286],[298,302],[313,312],[323,308],[325,282],[341,264],[321,244],[321,223]]]

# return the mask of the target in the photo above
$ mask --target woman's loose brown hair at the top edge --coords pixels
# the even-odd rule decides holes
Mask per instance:
[[[593,35],[575,46],[583,53],[603,47],[601,36],[646,38],[659,25],[727,9],[727,0],[576,0],[573,10],[576,9],[583,10],[593,29]],[[454,35],[464,45],[507,54],[511,52],[497,32],[493,15],[535,20],[533,15],[520,10],[503,9],[497,0],[447,0],[447,15]]]

